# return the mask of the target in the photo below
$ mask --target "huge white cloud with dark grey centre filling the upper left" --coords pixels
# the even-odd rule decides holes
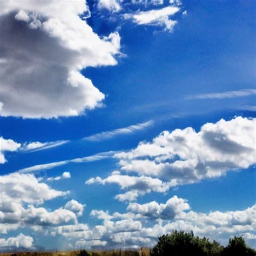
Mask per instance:
[[[117,64],[117,32],[94,33],[83,0],[8,0],[0,10],[1,116],[77,116],[100,106],[104,94],[79,71]]]

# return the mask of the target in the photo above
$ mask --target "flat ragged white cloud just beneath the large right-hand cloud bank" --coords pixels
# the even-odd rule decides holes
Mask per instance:
[[[154,192],[166,192],[169,190],[170,184],[164,183],[160,179],[151,178],[146,176],[127,176],[120,174],[112,174],[111,176],[102,179],[100,177],[91,178],[85,182],[86,185],[90,184],[118,184],[122,190],[131,190],[125,194],[118,194],[116,199],[120,201],[132,201],[139,195]]]

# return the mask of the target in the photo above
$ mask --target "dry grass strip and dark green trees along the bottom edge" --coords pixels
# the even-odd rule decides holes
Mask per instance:
[[[174,231],[162,235],[151,250],[111,250],[111,251],[67,251],[67,252],[17,252],[0,253],[0,256],[256,256],[256,251],[246,245],[241,237],[231,238],[226,247],[208,238],[199,238],[193,232]]]

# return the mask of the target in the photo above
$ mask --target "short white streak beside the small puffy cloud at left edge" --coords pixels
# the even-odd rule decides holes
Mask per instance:
[[[35,152],[41,151],[46,149],[51,149],[52,147],[58,147],[63,144],[68,143],[69,140],[57,140],[56,142],[31,142],[31,143],[24,143],[20,148],[21,151],[24,152]]]

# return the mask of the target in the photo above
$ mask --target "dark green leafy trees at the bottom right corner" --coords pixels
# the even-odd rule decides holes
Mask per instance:
[[[256,251],[246,245],[242,237],[230,238],[226,247],[217,241],[194,236],[193,232],[174,231],[162,235],[150,252],[151,256],[255,256]]]

